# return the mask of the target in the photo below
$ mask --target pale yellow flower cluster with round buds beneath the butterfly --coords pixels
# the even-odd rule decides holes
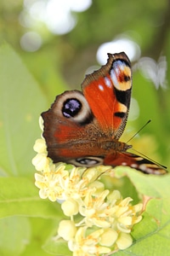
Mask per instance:
[[[99,255],[125,249],[133,240],[133,224],[141,220],[142,204],[132,206],[130,197],[122,199],[118,190],[105,189],[99,177],[109,175],[111,166],[75,167],[54,164],[48,158],[46,143],[37,139],[37,155],[32,163],[36,186],[42,199],[58,201],[65,214],[57,237],[62,237],[74,256]]]

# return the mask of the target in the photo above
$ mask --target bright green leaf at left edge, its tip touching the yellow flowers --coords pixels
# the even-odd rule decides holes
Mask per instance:
[[[28,178],[0,178],[0,218],[12,215],[41,218],[61,218],[57,202],[42,200],[38,189]]]

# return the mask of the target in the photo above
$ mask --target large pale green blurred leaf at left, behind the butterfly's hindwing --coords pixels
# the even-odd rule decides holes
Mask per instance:
[[[32,176],[32,146],[40,137],[38,118],[47,108],[47,101],[19,56],[7,44],[0,48],[0,78],[1,173]]]

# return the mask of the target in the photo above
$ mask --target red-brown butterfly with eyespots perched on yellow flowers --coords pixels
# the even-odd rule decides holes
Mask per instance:
[[[119,141],[127,123],[132,91],[131,63],[124,52],[108,54],[105,66],[88,74],[82,91],[66,90],[42,113],[48,157],[75,166],[130,166],[144,173],[165,174]]]

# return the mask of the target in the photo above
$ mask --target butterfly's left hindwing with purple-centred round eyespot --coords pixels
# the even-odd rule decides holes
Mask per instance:
[[[90,148],[96,128],[93,113],[81,91],[65,91],[57,96],[51,108],[42,113],[42,119],[42,135],[48,156],[54,162],[81,157]],[[96,148],[90,153],[95,155]]]

